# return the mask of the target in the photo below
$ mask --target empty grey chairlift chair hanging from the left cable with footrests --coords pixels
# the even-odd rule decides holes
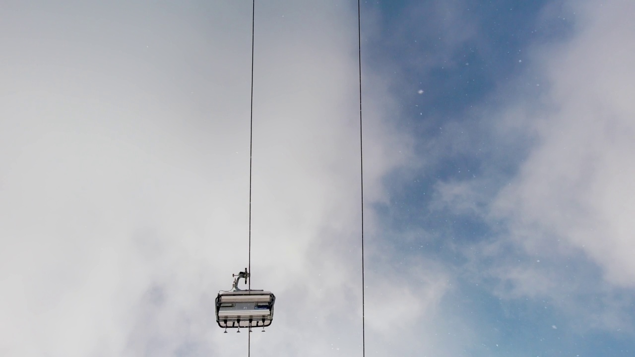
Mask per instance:
[[[241,290],[238,281],[243,278],[247,283],[250,274],[247,269],[239,274],[233,274],[234,285],[232,290],[219,292],[216,297],[216,322],[221,328],[265,327],[271,325],[274,316],[274,302],[276,297],[272,292],[265,290]]]

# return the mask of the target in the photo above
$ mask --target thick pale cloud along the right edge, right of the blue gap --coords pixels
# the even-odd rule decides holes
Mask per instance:
[[[538,145],[498,198],[532,253],[580,248],[618,286],[635,286],[635,26],[632,3],[572,3],[577,35],[538,57],[554,108],[535,119]],[[522,238],[521,238],[522,237]],[[566,246],[564,247],[566,249]]]

